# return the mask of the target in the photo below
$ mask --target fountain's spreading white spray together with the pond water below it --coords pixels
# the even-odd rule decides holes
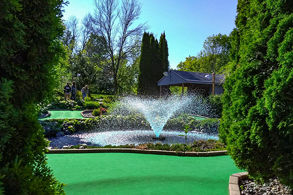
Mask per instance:
[[[159,99],[139,98],[136,96],[125,97],[116,102],[109,115],[114,118],[141,116],[139,117],[141,122],[145,121],[145,117],[150,128],[146,128],[148,124],[143,125],[143,127],[131,126],[128,121],[123,122],[122,120],[122,123],[118,124],[115,122],[117,120],[104,120],[105,118],[102,118],[104,122],[97,128],[70,136],[49,139],[51,141],[50,145],[51,147],[60,148],[63,145],[82,143],[93,146],[138,145],[147,142],[185,143],[185,138],[178,136],[183,133],[181,127],[166,131],[163,131],[163,128],[170,118],[188,113],[191,110],[205,112],[208,110],[208,105],[204,105],[201,98],[196,96],[171,96]],[[193,130],[188,132],[187,139],[190,143],[194,140],[218,139],[218,137],[216,133],[210,134],[202,130]]]

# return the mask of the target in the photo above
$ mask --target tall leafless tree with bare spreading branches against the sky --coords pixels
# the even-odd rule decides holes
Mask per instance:
[[[132,28],[139,18],[141,4],[137,0],[95,0],[95,13],[91,16],[91,30],[105,39],[107,63],[113,73],[114,93],[117,93],[117,73],[124,59],[140,44],[140,36],[148,28],[146,23]]]

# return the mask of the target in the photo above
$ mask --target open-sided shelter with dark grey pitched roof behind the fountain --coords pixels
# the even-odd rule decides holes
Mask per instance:
[[[160,94],[162,87],[180,86],[182,94],[184,94],[184,87],[187,87],[188,92],[200,90],[204,95],[209,95],[223,94],[224,82],[224,75],[170,70],[164,72],[164,77],[157,84],[160,86]]]

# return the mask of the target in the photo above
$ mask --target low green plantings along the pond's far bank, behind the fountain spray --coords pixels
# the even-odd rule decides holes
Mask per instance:
[[[98,110],[99,113],[99,110]],[[141,114],[116,116],[102,115],[96,118],[80,119],[49,119],[40,121],[43,127],[48,126],[49,122],[57,122],[67,126],[73,126],[76,132],[86,132],[96,130],[114,130],[114,129],[151,129],[149,122]],[[205,120],[195,120],[193,117],[175,117],[167,121],[164,131],[180,130],[186,124],[190,125],[193,130],[217,134],[219,119],[209,118]],[[59,128],[59,127],[58,127]]]

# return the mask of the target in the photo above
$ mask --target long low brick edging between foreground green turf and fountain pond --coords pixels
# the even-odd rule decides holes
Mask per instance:
[[[227,150],[210,152],[176,152],[166,150],[142,150],[136,148],[94,148],[94,149],[49,149],[46,154],[71,154],[71,153],[139,153],[149,155],[170,156],[222,156]]]

